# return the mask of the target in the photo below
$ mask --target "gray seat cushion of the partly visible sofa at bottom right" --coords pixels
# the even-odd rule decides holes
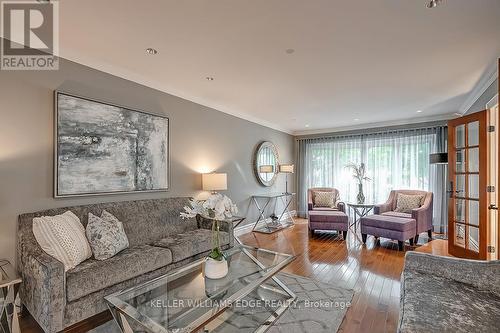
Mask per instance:
[[[500,297],[471,285],[404,272],[399,332],[500,332]]]

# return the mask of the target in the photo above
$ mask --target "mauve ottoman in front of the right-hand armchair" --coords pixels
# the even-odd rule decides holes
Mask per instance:
[[[417,234],[417,222],[411,218],[370,215],[362,217],[360,221],[363,243],[366,243],[367,235],[395,239],[402,251],[404,242],[410,240],[410,245],[413,245],[413,237]]]

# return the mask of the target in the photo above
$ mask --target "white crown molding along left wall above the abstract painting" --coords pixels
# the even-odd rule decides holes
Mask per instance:
[[[67,59],[69,61],[81,64],[81,65],[93,68],[93,69],[96,69],[96,70],[99,70],[101,72],[108,73],[108,74],[129,80],[129,81],[141,84],[143,86],[153,88],[153,89],[156,89],[158,91],[161,91],[161,92],[188,100],[190,102],[206,106],[206,107],[214,109],[216,111],[226,113],[226,114],[229,114],[231,116],[234,116],[234,117],[237,117],[237,118],[240,118],[243,120],[250,121],[252,123],[255,123],[255,124],[258,124],[261,126],[265,126],[265,127],[268,127],[268,128],[271,128],[271,129],[274,129],[274,130],[277,130],[277,131],[280,131],[283,133],[292,134],[292,131],[290,129],[286,129],[286,128],[277,126],[277,125],[275,125],[271,122],[268,122],[266,120],[251,116],[245,112],[230,110],[222,105],[213,104],[209,101],[204,100],[203,98],[191,96],[189,94],[186,94],[184,92],[176,90],[172,87],[166,86],[165,84],[159,83],[159,82],[154,81],[154,80],[150,80],[150,79],[148,79],[140,74],[137,74],[135,72],[125,70],[123,68],[118,68],[116,66],[113,66],[113,65],[106,63],[106,62],[103,62],[103,61],[99,61],[99,60],[95,60],[95,59],[91,59],[91,58],[82,56],[81,54],[73,52],[72,50],[70,50],[68,48],[61,50],[60,57],[63,59]]]

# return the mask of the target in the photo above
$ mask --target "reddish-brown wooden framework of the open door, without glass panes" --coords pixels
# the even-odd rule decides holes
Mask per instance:
[[[453,188],[452,190],[452,195],[455,196],[455,190],[456,190],[456,179],[455,179],[455,172],[456,172],[456,153],[455,153],[455,130],[452,129],[452,127],[455,127],[457,125],[462,125],[464,123],[470,123],[478,121],[479,122],[479,145],[481,146],[481,138],[486,138],[487,137],[487,110],[483,110],[480,112],[472,113],[470,115],[466,115],[457,119],[452,119],[448,121],[448,180],[452,182]],[[465,131],[464,131],[464,140],[465,140],[465,146],[468,146],[468,130],[467,126],[465,126]],[[479,149],[479,170],[487,170],[488,168],[488,147],[487,147],[487,142],[485,143],[486,147],[485,148],[480,148]],[[468,155],[467,150],[466,155]],[[466,163],[466,170],[468,170],[468,158],[465,158],[464,156],[464,163]],[[484,172],[484,171],[483,171]],[[466,177],[465,181],[465,188],[467,189],[465,193],[465,197],[468,197],[468,177]],[[464,249],[460,249],[457,246],[448,246],[450,254],[457,256],[457,257],[463,257],[463,258],[470,258],[470,259],[486,259],[487,257],[487,246],[488,246],[488,196],[487,196],[487,185],[488,185],[488,176],[483,175],[482,177],[479,177],[479,253],[474,253],[473,251],[470,251],[467,249],[468,246],[468,231],[467,231],[467,224],[465,225],[465,245]],[[455,209],[455,198],[450,198],[451,200],[448,200],[448,239],[449,242],[455,242],[455,223],[454,223],[454,209]],[[468,207],[466,205],[465,207],[465,219],[467,221],[467,213],[468,213]],[[484,222],[481,222],[484,221]]]

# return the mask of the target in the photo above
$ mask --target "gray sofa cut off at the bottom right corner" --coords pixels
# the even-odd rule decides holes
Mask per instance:
[[[398,332],[500,332],[500,261],[407,252]]]

